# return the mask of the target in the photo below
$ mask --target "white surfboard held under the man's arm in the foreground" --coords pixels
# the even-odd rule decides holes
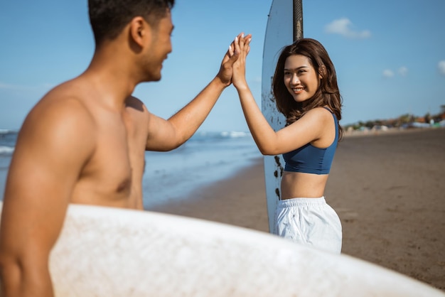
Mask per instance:
[[[68,207],[50,274],[60,297],[445,296],[380,266],[265,232],[87,205]]]

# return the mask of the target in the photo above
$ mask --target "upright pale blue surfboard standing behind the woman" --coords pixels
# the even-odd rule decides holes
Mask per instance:
[[[262,113],[272,129],[282,129],[286,123],[284,115],[279,113],[272,95],[272,77],[279,53],[285,45],[294,42],[294,2],[292,0],[274,0],[267,19],[266,35],[262,62]],[[275,210],[280,198],[280,182],[284,170],[284,159],[279,156],[264,156],[264,178],[266,183],[267,215],[269,231],[274,228]]]

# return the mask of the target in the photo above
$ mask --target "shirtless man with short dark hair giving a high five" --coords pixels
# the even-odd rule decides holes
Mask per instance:
[[[230,85],[237,55],[168,120],[131,97],[161,79],[174,0],[90,0],[96,49],[80,76],[31,110],[9,168],[0,228],[2,296],[53,296],[48,256],[70,203],[142,209],[144,151],[177,148]],[[241,38],[241,36],[240,36]]]

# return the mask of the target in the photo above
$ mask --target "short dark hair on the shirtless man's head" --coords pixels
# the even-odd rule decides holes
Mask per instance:
[[[142,16],[151,26],[172,9],[175,0],[88,0],[88,12],[96,45],[116,38],[124,26]]]

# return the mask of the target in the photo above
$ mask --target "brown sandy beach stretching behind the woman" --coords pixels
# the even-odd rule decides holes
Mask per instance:
[[[346,136],[327,202],[343,225],[343,254],[445,291],[445,129]],[[191,199],[151,210],[268,232],[262,158]]]

